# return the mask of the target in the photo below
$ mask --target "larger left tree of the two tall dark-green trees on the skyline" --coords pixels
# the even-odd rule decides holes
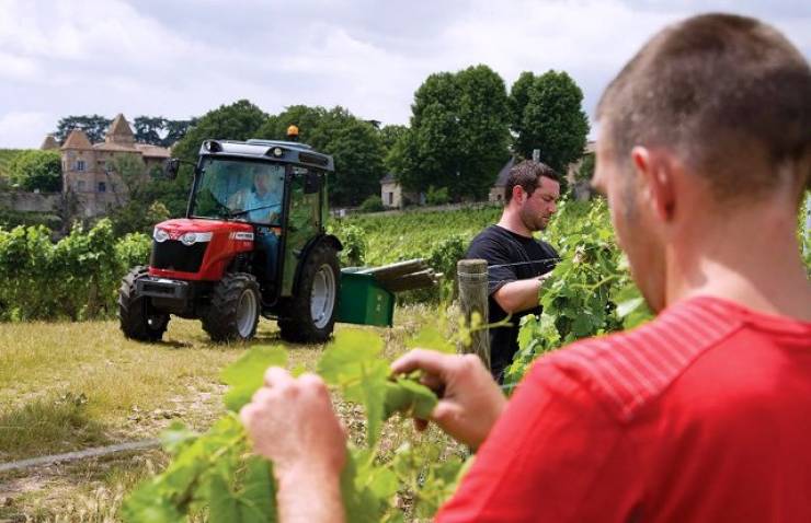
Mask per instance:
[[[487,66],[431,74],[414,93],[411,126],[388,167],[406,188],[446,187],[450,198],[482,198],[509,158],[504,81]]]

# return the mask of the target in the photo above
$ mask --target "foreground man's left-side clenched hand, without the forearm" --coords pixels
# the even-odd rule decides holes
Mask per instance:
[[[346,462],[346,434],[332,410],[327,385],[315,374],[294,379],[267,369],[240,418],[258,453],[273,462],[274,474],[338,478]]]

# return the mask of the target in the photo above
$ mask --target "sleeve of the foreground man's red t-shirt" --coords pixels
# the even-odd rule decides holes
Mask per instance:
[[[635,499],[628,452],[587,387],[539,360],[436,521],[625,521]]]

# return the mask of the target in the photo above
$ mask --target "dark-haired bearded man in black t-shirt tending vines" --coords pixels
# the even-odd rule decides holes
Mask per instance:
[[[558,174],[549,166],[524,161],[510,170],[504,212],[470,243],[466,258],[488,263],[489,323],[512,314],[512,327],[490,329],[490,368],[501,382],[518,350],[518,324],[527,314],[540,314],[538,293],[555,268],[558,253],[533,233],[546,229],[560,197]]]

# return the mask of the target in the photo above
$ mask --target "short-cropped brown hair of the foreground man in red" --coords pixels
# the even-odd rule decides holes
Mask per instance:
[[[620,164],[635,146],[669,149],[719,201],[811,182],[811,70],[754,19],[705,14],[665,28],[608,85],[597,119]]]

